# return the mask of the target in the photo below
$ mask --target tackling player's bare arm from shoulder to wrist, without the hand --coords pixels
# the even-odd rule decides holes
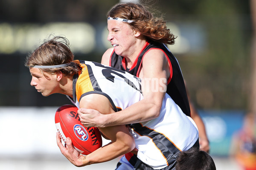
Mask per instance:
[[[167,75],[169,75],[169,65],[163,52],[149,51],[143,59],[143,68],[139,75],[142,78],[144,99],[120,111],[119,114],[108,115],[111,117],[109,119],[118,124],[130,124],[145,122],[159,116],[166,93]]]

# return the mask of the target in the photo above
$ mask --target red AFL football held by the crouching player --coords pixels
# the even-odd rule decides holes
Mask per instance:
[[[97,127],[84,127],[73,105],[63,105],[55,113],[55,125],[61,139],[69,137],[79,153],[88,155],[102,147],[102,137]]]

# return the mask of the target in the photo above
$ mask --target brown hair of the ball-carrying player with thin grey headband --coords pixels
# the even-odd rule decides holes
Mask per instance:
[[[39,68],[41,71],[53,74],[61,71],[67,76],[77,74],[79,67],[74,60],[74,54],[69,47],[69,41],[65,37],[56,36],[48,41],[44,41],[32,54],[26,57],[25,65],[33,67],[35,65],[61,65],[69,63],[70,65],[61,68]]]

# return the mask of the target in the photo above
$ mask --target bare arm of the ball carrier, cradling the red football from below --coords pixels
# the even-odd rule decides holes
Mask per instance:
[[[98,110],[102,114],[114,112],[108,99],[100,94],[89,94],[84,96],[79,105],[81,108]],[[80,167],[110,161],[134,149],[134,138],[130,135],[125,125],[99,128],[99,130],[101,130],[101,132],[112,142],[95,150],[87,156],[83,156],[81,154],[78,156],[76,150],[71,147],[72,145],[69,146],[67,142],[66,149],[58,144],[61,149],[61,153],[64,154],[71,163]],[[57,138],[57,141],[58,140],[59,139]]]

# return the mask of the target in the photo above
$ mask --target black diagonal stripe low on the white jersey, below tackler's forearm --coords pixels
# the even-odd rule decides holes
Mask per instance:
[[[176,156],[180,153],[180,150],[167,139],[166,136],[148,127],[143,127],[140,123],[131,124],[131,127],[134,128],[134,131],[140,136],[148,136],[151,138],[157,148],[162,152],[169,165],[176,161]]]

